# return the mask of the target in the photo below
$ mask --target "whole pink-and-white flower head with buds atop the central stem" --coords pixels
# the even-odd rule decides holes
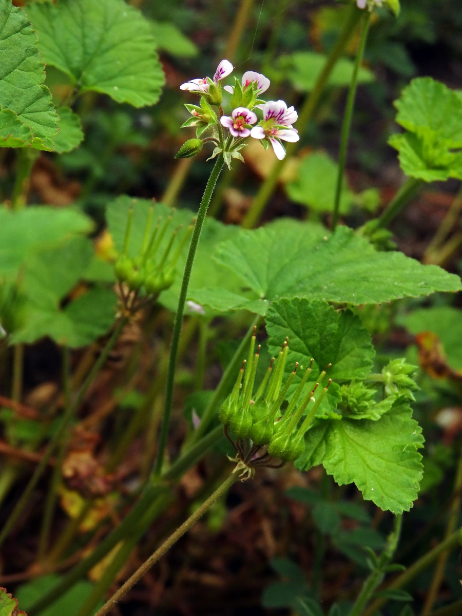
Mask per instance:
[[[224,115],[221,81],[232,71],[233,65],[229,60],[222,60],[213,78],[190,79],[180,86],[180,89],[201,97],[200,106],[185,105],[192,117],[182,126],[194,126],[197,139],[207,129],[211,129],[212,136],[203,139],[216,144],[211,158],[223,153],[228,165],[232,158],[242,160],[239,150],[248,137],[259,139],[265,149],[271,145],[277,158],[282,160],[286,155],[282,141],[299,140],[298,131],[293,128],[298,118],[297,112],[293,107],[287,107],[283,100],[261,100],[259,96],[269,88],[269,79],[260,73],[246,71],[241,81],[235,79],[234,86],[223,87],[232,95],[231,113]],[[198,147],[197,142],[192,142],[189,140],[187,147],[182,148],[183,152],[180,150],[177,157],[193,156],[199,152],[201,144]]]

